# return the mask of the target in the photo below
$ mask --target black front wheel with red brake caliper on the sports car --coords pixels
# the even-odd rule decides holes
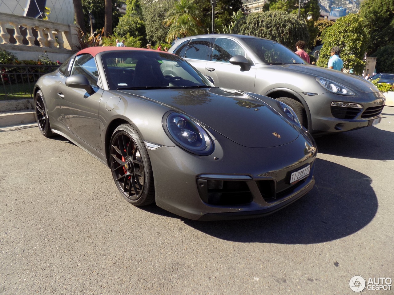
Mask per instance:
[[[151,160],[136,128],[119,125],[113,131],[108,150],[112,177],[123,197],[134,206],[153,203]]]

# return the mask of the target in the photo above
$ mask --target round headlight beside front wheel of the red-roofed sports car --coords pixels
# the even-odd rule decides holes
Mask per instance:
[[[193,154],[206,156],[214,150],[214,143],[201,125],[185,114],[168,112],[163,117],[164,130],[178,146]]]

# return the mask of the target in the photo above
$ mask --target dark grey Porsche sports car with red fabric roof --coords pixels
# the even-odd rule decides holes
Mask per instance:
[[[84,49],[37,81],[34,101],[41,133],[108,165],[135,206],[245,218],[275,212],[314,185],[314,140],[287,105],[214,87],[170,53]]]

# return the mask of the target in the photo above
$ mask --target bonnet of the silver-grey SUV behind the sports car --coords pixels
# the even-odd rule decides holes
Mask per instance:
[[[327,78],[346,87],[349,87],[349,89],[353,91],[357,90],[363,93],[379,92],[375,85],[361,77],[345,74],[343,72],[328,68],[322,68],[321,66],[281,65],[280,67],[286,68],[287,70],[293,70],[297,73],[304,73],[308,75]]]

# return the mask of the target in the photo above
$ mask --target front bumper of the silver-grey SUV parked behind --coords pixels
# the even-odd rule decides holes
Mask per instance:
[[[342,96],[331,92],[314,96],[301,95],[309,107],[314,135],[371,126],[373,120],[381,118],[385,105],[385,97],[381,92],[358,93],[355,96]],[[362,107],[332,107],[333,101],[357,103]]]

